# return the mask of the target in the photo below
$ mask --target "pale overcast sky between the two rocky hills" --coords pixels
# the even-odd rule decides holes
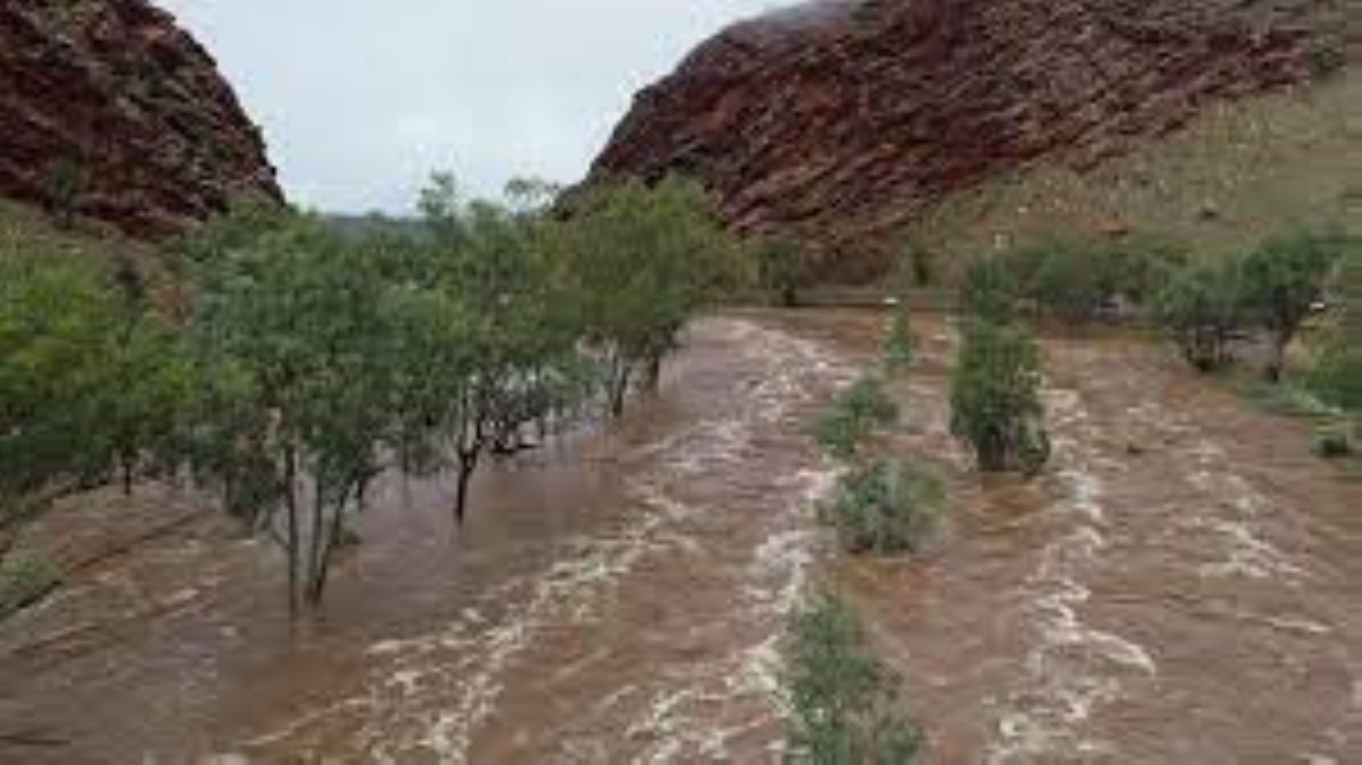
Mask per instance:
[[[778,0],[158,0],[264,127],[290,197],[410,208],[434,169],[481,195],[575,181],[632,94]]]

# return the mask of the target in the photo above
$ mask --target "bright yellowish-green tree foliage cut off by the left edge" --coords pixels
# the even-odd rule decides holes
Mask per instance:
[[[173,438],[187,395],[173,327],[98,267],[0,253],[0,493],[131,476]]]

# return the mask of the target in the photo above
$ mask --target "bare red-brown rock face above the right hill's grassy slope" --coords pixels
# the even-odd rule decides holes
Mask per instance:
[[[870,0],[740,23],[636,97],[594,174],[699,177],[741,233],[865,280],[922,206],[1091,167],[1343,56],[1346,0]]]

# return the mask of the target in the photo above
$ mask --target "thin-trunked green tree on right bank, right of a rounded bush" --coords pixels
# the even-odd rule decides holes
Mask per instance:
[[[1239,298],[1248,317],[1268,332],[1268,380],[1282,378],[1286,348],[1323,297],[1344,245],[1336,234],[1297,230],[1269,237],[1244,259]]]

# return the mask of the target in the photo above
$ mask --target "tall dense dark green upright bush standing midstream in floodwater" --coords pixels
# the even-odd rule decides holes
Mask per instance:
[[[951,432],[979,470],[1034,475],[1050,457],[1039,397],[1041,358],[1026,331],[974,320],[951,380]]]

